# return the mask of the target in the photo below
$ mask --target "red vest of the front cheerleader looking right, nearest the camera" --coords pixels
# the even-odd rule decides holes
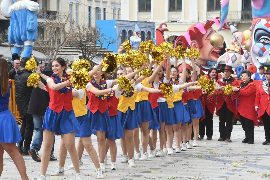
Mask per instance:
[[[53,79],[53,82],[55,81],[54,77],[50,78]],[[71,111],[73,109],[72,91],[69,91],[68,93],[60,93],[59,90],[57,91],[51,90],[48,84],[46,86],[46,89],[48,90],[50,95],[49,107],[51,110],[59,114],[63,110],[63,108],[66,111]]]

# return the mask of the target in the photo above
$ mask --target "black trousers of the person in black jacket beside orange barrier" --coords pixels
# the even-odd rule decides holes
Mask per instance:
[[[23,149],[28,151],[30,149],[30,144],[33,137],[34,123],[32,114],[21,114],[22,126],[20,133],[22,136],[21,142],[19,144],[23,145]],[[24,143],[23,143],[24,142]]]

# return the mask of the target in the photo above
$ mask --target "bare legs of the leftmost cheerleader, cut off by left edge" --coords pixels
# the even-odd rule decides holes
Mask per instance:
[[[8,153],[8,155],[13,160],[14,164],[16,165],[16,167],[21,175],[22,180],[28,180],[28,177],[26,174],[25,162],[24,162],[22,155],[19,153],[19,151],[16,148],[16,143],[0,142],[0,153],[2,154],[1,155],[2,162],[0,162],[0,164],[2,164],[2,165],[0,165],[0,176],[2,174],[3,166],[4,166],[4,164],[3,164],[4,150]]]

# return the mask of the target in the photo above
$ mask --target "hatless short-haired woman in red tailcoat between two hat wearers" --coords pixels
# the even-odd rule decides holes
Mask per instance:
[[[254,144],[254,124],[259,127],[257,113],[254,108],[256,98],[256,85],[251,79],[251,72],[243,70],[241,72],[241,86],[234,87],[232,91],[238,91],[240,99],[238,99],[237,118],[240,119],[243,130],[245,131],[245,139],[242,143]],[[248,112],[248,113],[247,113]]]

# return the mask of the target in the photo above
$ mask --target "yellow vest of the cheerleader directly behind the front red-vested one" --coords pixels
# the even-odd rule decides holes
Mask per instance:
[[[83,99],[79,99],[78,97],[73,97],[72,99],[72,106],[76,117],[83,116],[87,114],[87,107],[85,105],[86,103],[86,90],[83,88],[83,91],[85,93],[85,96]]]

